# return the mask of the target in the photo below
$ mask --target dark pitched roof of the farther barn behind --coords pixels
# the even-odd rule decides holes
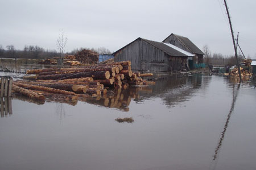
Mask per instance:
[[[183,44],[185,44],[185,46],[192,52],[192,53],[196,53],[196,54],[200,54],[200,55],[204,55],[204,52],[201,51],[201,49],[199,49],[198,47],[196,47],[196,45],[194,43],[191,42],[191,40],[189,40],[187,37],[184,36],[180,36],[177,34],[171,34],[176,36],[176,38]],[[167,38],[169,38],[171,35],[169,35]],[[166,39],[167,39],[166,38]],[[163,42],[166,40],[164,39]]]

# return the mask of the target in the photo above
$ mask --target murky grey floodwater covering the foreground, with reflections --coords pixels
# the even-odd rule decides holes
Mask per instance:
[[[75,106],[5,102],[0,169],[256,169],[250,82],[196,74]]]

